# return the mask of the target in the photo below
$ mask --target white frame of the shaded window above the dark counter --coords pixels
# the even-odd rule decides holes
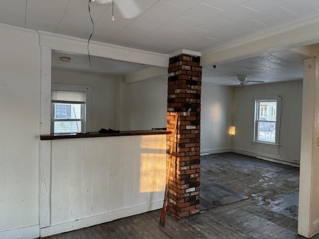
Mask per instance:
[[[68,85],[68,84],[51,84],[51,92],[57,91],[77,91],[85,92],[85,104],[81,105],[81,131],[90,131],[91,128],[91,86],[84,85]],[[54,103],[51,103],[51,133],[54,133]],[[66,119],[67,121],[74,121],[73,119]],[[77,119],[75,119],[78,121]],[[58,120],[63,121],[63,120]]]

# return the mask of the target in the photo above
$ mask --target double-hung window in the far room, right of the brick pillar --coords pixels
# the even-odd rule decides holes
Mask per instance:
[[[277,97],[255,98],[254,141],[264,143],[278,143],[277,133]]]

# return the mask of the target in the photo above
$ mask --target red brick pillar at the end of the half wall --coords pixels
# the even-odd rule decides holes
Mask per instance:
[[[169,59],[167,130],[173,130],[174,113],[179,119],[167,210],[178,218],[199,212],[201,71],[199,56],[181,54]],[[167,135],[168,149],[172,140],[172,135]]]

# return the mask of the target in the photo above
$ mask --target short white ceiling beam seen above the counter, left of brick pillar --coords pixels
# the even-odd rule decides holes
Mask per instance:
[[[136,71],[136,72],[127,74],[125,75],[125,83],[143,81],[146,79],[159,77],[159,76],[166,76],[165,79],[167,79],[167,68],[151,67],[145,70]]]

